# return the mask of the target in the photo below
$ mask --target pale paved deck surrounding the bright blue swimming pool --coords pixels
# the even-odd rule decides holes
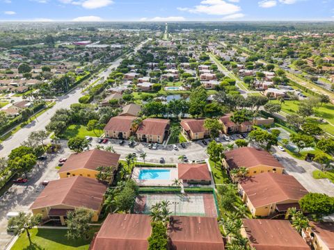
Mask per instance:
[[[169,180],[139,180],[141,169],[168,169],[170,170]],[[135,167],[132,172],[132,179],[140,186],[169,186],[173,185],[173,180],[177,178],[177,167]]]

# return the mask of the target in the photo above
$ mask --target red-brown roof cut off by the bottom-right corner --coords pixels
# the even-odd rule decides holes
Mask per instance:
[[[310,222],[312,232],[326,244],[329,250],[334,250],[334,223]]]

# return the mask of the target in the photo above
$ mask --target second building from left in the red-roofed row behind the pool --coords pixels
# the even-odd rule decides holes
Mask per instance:
[[[136,132],[137,138],[141,142],[164,142],[170,129],[170,120],[168,119],[144,119]]]

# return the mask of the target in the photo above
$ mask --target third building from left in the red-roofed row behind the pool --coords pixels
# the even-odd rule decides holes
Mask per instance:
[[[205,119],[182,119],[180,122],[182,133],[190,140],[200,140],[210,135],[204,127]]]

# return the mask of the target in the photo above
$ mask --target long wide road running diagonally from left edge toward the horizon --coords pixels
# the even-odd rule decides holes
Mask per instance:
[[[134,51],[137,51],[138,49],[140,49],[143,46],[143,44],[145,44],[145,42],[148,42],[148,40],[145,40],[144,42],[139,44],[138,47],[134,49]],[[123,60],[122,58],[119,58],[118,60],[111,63],[109,68],[106,71],[101,72],[97,76],[97,78],[100,78],[103,76],[104,77],[109,76],[109,74],[111,73],[111,70],[118,67],[118,65],[120,65],[122,60]],[[92,80],[92,82],[93,81],[94,80]],[[71,104],[77,103],[79,98],[82,97],[83,95],[84,93],[82,93],[79,88],[76,88],[75,90],[72,90],[72,92],[65,94],[62,97],[58,97],[58,99],[56,100],[56,105],[54,105],[54,107],[52,107],[47,112],[40,115],[38,119],[33,120],[33,122],[24,126],[24,128],[21,128],[19,131],[17,131],[17,133],[15,133],[14,135],[10,136],[10,138],[2,142],[1,149],[0,149],[0,157],[8,156],[10,151],[15,149],[16,147],[19,147],[19,145],[28,138],[31,132],[40,131],[40,130],[45,129],[45,126],[49,124],[49,121],[51,117],[56,113],[56,110],[60,108],[70,108]]]

